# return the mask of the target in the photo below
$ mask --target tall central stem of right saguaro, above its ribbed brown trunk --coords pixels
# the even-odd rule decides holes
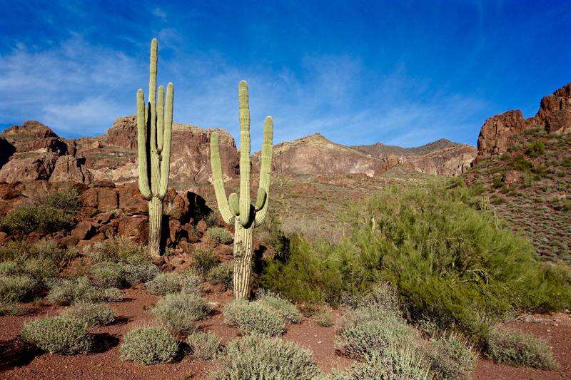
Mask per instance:
[[[238,88],[240,114],[240,223],[251,225],[250,204],[250,105],[248,83],[241,81]]]

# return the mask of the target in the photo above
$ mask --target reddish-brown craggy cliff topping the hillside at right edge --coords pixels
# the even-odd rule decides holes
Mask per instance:
[[[515,135],[529,128],[545,128],[547,133],[571,132],[571,83],[542,98],[532,118],[525,119],[522,111],[512,110],[485,120],[477,139],[477,160],[507,152]]]

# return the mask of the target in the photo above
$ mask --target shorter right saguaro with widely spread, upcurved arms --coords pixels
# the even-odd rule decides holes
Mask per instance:
[[[263,128],[263,145],[260,168],[260,185],[256,205],[250,202],[250,106],[248,83],[241,81],[238,88],[240,114],[240,195],[233,192],[226,198],[218,134],[212,133],[210,156],[214,190],[218,210],[223,220],[234,224],[234,297],[246,299],[250,287],[253,255],[253,229],[261,225],[268,212],[270,190],[270,167],[272,162],[273,120],[266,118]]]

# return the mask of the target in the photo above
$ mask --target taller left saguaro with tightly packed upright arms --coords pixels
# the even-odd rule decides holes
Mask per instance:
[[[151,41],[151,64],[148,78],[148,106],[143,89],[137,91],[138,189],[148,200],[148,249],[161,255],[163,198],[168,186],[171,163],[171,127],[173,125],[173,83],[163,86],[156,96],[157,41]]]

